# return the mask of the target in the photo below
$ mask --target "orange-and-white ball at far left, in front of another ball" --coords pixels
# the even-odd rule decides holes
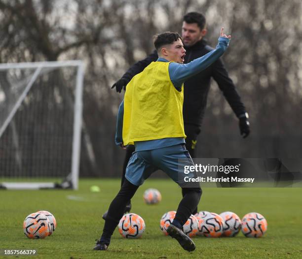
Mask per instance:
[[[41,213],[28,215],[23,223],[24,234],[31,239],[45,238],[49,235],[50,223],[48,218]]]

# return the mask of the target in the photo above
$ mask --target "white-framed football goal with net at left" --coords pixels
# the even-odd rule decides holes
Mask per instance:
[[[78,187],[81,61],[0,64],[0,188]]]

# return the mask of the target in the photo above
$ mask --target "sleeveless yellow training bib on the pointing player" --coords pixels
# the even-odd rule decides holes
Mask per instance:
[[[132,78],[124,97],[123,143],[186,137],[184,91],[178,92],[169,76],[169,62],[152,62]]]

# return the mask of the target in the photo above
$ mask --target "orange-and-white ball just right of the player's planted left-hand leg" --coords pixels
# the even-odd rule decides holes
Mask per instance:
[[[125,214],[118,223],[118,231],[125,238],[139,238],[145,228],[145,221],[135,213]]]

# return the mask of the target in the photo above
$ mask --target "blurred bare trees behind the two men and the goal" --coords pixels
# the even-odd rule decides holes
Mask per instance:
[[[0,0],[0,11],[0,63],[85,62],[81,176],[120,175],[124,151],[114,134],[123,94],[111,86],[153,51],[155,33],[181,32],[189,11],[206,16],[210,45],[221,26],[232,35],[223,60],[252,130],[247,139],[239,136],[213,82],[198,157],[301,157],[300,0]]]

